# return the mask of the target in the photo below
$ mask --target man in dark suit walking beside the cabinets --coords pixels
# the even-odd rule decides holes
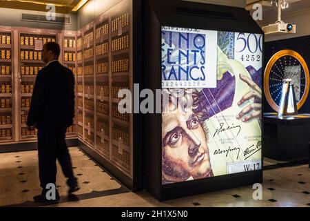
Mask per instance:
[[[74,75],[59,63],[59,55],[59,44],[48,42],[43,46],[46,66],[37,75],[28,113],[28,129],[38,129],[39,177],[43,190],[34,200],[39,202],[49,202],[47,184],[56,186],[56,160],[68,178],[69,193],[79,190],[65,143],[65,133],[74,117]],[[59,200],[57,190],[55,200]]]

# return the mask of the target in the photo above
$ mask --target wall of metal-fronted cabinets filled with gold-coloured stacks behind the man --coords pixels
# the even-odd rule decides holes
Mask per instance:
[[[76,79],[78,137],[132,177],[132,115],[118,113],[118,90],[132,90],[132,6],[122,1],[78,31],[0,27],[0,145],[37,139],[26,121],[37,73],[35,39],[61,45],[61,63]]]

